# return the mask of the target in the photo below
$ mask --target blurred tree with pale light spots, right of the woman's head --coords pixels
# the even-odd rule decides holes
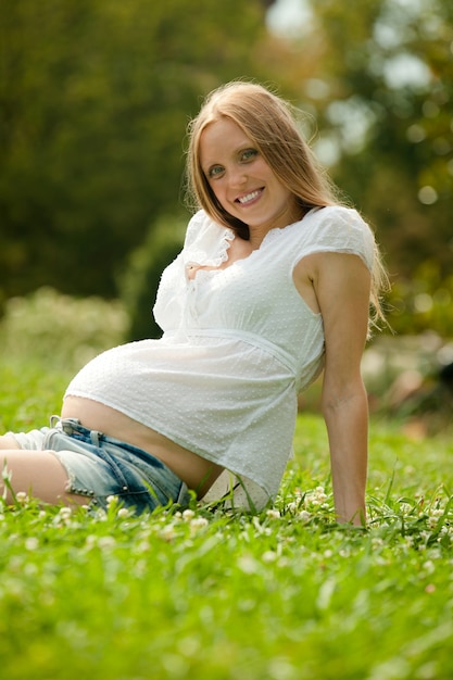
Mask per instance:
[[[399,293],[401,284],[407,292],[436,267],[445,301],[453,268],[453,3],[357,0],[351,11],[337,0],[313,0],[310,7],[299,53],[309,54],[311,75],[295,65],[290,78],[299,79],[302,106],[315,115],[315,148],[376,225]],[[435,300],[436,290],[424,294]],[[413,301],[400,302],[417,311]]]

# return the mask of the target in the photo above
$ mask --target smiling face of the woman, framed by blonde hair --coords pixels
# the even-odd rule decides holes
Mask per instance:
[[[251,232],[266,232],[300,219],[294,194],[230,118],[205,127],[200,138],[200,162],[222,207],[246,223]]]

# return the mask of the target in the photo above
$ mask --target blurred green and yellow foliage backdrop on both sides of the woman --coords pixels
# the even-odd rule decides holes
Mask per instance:
[[[307,112],[374,225],[393,329],[453,336],[452,3],[306,0],[278,37],[272,4],[0,0],[0,308],[41,286],[122,297],[141,337],[159,278],[144,269],[173,253],[152,232],[188,217],[186,124],[247,77]]]

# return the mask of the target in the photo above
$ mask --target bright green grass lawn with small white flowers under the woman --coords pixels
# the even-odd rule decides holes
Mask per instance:
[[[68,377],[0,361],[1,428],[47,424]],[[366,531],[331,520],[316,415],[255,517],[0,505],[1,678],[450,678],[452,454],[372,424]]]

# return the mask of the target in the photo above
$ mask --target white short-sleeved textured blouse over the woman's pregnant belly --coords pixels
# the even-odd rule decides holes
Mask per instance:
[[[314,209],[270,230],[248,257],[188,278],[190,263],[226,261],[234,238],[197,213],[181,253],[162,275],[154,306],[162,338],[104,352],[66,394],[116,408],[225,467],[229,473],[205,499],[236,487],[234,505],[252,501],[253,508],[278,491],[292,451],[297,393],[323,368],[323,319],[297,291],[294,265],[329,251],[356,254],[372,268],[374,238],[354,210]]]

